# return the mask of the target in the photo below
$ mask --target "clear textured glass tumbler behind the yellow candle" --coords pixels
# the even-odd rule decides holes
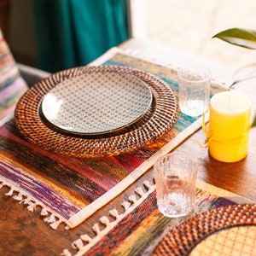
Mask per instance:
[[[182,113],[196,117],[207,112],[211,74],[207,67],[190,65],[177,71],[178,101]]]

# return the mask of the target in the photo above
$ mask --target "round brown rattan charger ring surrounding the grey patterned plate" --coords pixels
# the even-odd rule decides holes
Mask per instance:
[[[65,79],[96,72],[124,73],[148,84],[153,101],[143,118],[119,131],[90,137],[61,131],[44,119],[40,106],[49,90]],[[75,67],[55,73],[27,90],[16,106],[15,123],[26,140],[40,148],[77,157],[102,157],[130,152],[154,142],[172,128],[178,113],[175,92],[152,74],[131,67]]]

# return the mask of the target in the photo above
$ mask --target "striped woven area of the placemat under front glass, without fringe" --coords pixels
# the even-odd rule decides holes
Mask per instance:
[[[224,197],[196,190],[197,209],[194,214],[217,207],[234,205]],[[189,216],[187,218],[190,218]],[[157,209],[155,191],[133,212],[128,214],[84,255],[150,255],[166,232],[187,218],[167,218]],[[75,242],[73,246],[75,247]],[[86,246],[85,246],[86,247]],[[79,248],[82,251],[82,248]],[[78,253],[82,255],[82,253]]]

